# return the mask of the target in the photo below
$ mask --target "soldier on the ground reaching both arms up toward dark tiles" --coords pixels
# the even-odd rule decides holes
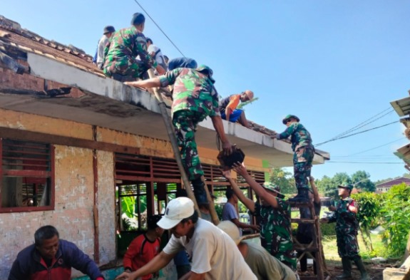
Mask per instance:
[[[260,242],[262,247],[275,258],[282,261],[291,269],[296,271],[296,252],[293,250],[292,229],[290,226],[290,205],[280,193],[280,188],[270,182],[265,182],[263,187],[257,183],[247,172],[245,165],[240,162],[235,165],[235,171],[242,175],[260,202],[253,202],[245,197],[236,182],[230,177],[230,172],[223,171],[237,198],[245,204],[250,212],[260,217]]]

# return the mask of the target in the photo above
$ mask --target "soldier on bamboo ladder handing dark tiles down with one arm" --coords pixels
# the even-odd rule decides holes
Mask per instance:
[[[204,172],[200,165],[195,130],[198,123],[209,116],[217,131],[222,148],[226,155],[230,155],[232,147],[227,140],[218,108],[218,95],[213,85],[212,69],[200,66],[196,69],[176,68],[168,71],[164,76],[145,81],[127,82],[127,85],[142,88],[166,87],[174,85],[172,116],[180,155],[185,171],[193,184],[195,198],[198,204],[205,204],[207,197],[205,185],[201,179]]]

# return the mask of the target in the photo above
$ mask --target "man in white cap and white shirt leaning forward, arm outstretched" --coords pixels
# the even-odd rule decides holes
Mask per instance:
[[[184,248],[192,257],[192,269],[182,278],[184,280],[257,280],[235,242],[212,223],[198,218],[193,201],[188,197],[171,200],[157,224],[173,234],[163,252],[137,271],[124,272],[116,280],[135,280],[158,271]]]

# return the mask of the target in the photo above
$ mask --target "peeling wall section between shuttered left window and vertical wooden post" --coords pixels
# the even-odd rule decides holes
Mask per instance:
[[[55,209],[0,214],[0,279],[6,279],[16,255],[34,243],[34,232],[52,224],[61,239],[93,257],[93,153],[56,145]]]

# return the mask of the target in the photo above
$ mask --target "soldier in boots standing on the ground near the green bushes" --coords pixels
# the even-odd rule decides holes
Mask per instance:
[[[362,280],[368,280],[369,275],[359,256],[359,244],[357,244],[357,202],[350,197],[353,185],[339,185],[339,197],[341,198],[337,208],[330,217],[322,218],[321,222],[336,222],[337,252],[342,258],[343,274],[337,279],[350,279],[352,277],[352,261],[357,265]]]

